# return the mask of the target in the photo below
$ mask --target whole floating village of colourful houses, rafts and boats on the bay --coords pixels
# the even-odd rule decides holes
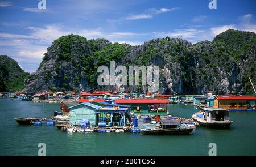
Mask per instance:
[[[0,93],[0,98],[31,102],[60,103],[50,118],[14,118],[20,125],[55,126],[64,132],[131,132],[143,135],[185,135],[199,126],[226,129],[232,124],[229,112],[256,112],[255,96],[161,95],[148,92],[26,92]],[[199,111],[191,118],[173,117],[169,104],[191,104]],[[67,104],[72,106],[67,106]]]

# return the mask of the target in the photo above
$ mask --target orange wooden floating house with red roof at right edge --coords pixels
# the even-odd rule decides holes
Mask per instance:
[[[254,96],[217,96],[214,99],[214,108],[223,108],[230,111],[245,111],[255,106]]]

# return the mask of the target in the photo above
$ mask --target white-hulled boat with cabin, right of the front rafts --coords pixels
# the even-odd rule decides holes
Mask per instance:
[[[192,119],[201,126],[228,128],[233,121],[229,118],[229,110],[222,108],[204,108],[192,115]]]

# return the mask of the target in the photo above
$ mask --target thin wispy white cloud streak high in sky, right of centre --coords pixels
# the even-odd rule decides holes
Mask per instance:
[[[142,14],[129,14],[122,19],[124,20],[138,20],[138,19],[151,19],[155,15],[162,14],[163,12],[168,12],[168,11],[174,11],[180,9],[179,7],[174,7],[174,8],[160,8],[159,10],[156,8],[150,8],[145,10],[144,13]]]

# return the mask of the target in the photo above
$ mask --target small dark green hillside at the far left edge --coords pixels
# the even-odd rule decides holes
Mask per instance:
[[[0,92],[21,91],[28,75],[14,59],[0,55]]]

